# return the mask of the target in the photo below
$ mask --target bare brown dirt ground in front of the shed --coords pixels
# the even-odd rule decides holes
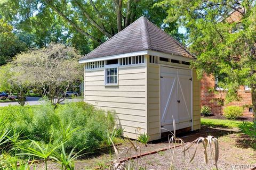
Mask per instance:
[[[198,137],[206,137],[207,135],[213,135],[218,138],[219,141],[219,160],[218,168],[219,169],[252,169],[256,167],[256,150],[253,150],[251,147],[251,140],[249,140],[245,135],[232,131],[232,129],[212,129],[206,126],[203,126],[200,131],[195,133],[185,133],[180,134],[179,137],[182,138],[185,142],[191,142]],[[163,148],[168,148],[169,144],[167,139],[155,141],[149,143],[147,147],[143,146],[141,143],[135,141],[134,145],[141,147],[142,153],[155,151]],[[123,142],[123,145],[117,146],[117,148],[130,147],[131,144]],[[190,158],[194,154],[196,146],[192,147],[187,153],[186,157],[181,153],[181,149],[176,148],[173,160],[172,169],[215,169],[213,162],[209,160],[209,164],[205,165],[204,162],[204,152],[202,143],[198,145],[197,154],[193,162],[189,163]],[[159,151],[156,154],[143,156],[138,158],[139,167],[142,169],[170,169],[171,158],[172,158],[172,149],[166,151]],[[115,159],[114,151],[112,156],[108,154],[109,150],[101,150],[97,154],[88,155],[81,160],[75,162],[75,169],[108,169],[106,166],[110,163],[110,160]],[[132,149],[131,155],[136,155],[134,149]],[[210,153],[210,152],[209,152]],[[129,156],[128,154],[127,156]],[[210,154],[209,154],[210,157]],[[133,168],[136,169],[137,160],[130,161]],[[126,162],[127,164],[127,162]],[[40,164],[39,169],[44,169],[44,164]],[[38,169],[37,168],[37,169]],[[48,169],[60,169],[57,167],[56,163],[50,163]]]

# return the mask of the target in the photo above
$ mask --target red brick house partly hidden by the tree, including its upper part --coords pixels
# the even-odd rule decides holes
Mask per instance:
[[[242,10],[242,8],[239,8],[239,10]],[[242,14],[238,11],[233,11],[229,14],[229,17],[226,19],[227,22],[237,22],[238,29],[239,28],[239,21],[241,20]],[[221,22],[221,21],[220,21]],[[237,30],[232,30],[237,31]],[[251,98],[251,92],[250,88],[241,86],[238,90],[238,95],[242,97],[241,101],[233,101],[229,104],[225,104],[224,106],[221,106],[218,104],[217,99],[225,99],[226,92],[225,90],[218,88],[219,91],[218,94],[215,94],[214,92],[209,92],[209,89],[215,87],[215,83],[217,83],[213,76],[207,76],[204,75],[203,79],[201,80],[201,107],[202,106],[209,106],[211,108],[212,114],[223,114],[223,109],[227,106],[235,105],[235,106],[244,106],[244,105],[250,105],[252,103]],[[244,108],[244,116],[253,116],[251,108]]]

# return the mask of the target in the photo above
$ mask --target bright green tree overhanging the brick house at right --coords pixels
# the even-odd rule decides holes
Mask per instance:
[[[189,48],[198,57],[193,66],[198,77],[218,78],[227,89],[226,102],[239,100],[240,86],[250,86],[253,115],[256,117],[256,2],[237,0],[171,0],[167,21],[179,20],[188,31]],[[241,20],[230,22],[231,12]]]

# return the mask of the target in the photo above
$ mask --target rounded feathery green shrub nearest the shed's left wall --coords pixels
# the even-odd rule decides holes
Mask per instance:
[[[107,129],[114,127],[114,116],[111,113],[96,110],[83,101],[68,103],[56,109],[60,124],[71,128],[81,127],[65,144],[67,149],[76,146],[76,150],[98,148],[107,138]],[[59,132],[57,132],[59,133]]]

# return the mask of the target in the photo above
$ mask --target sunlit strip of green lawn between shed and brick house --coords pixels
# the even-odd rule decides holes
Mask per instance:
[[[220,127],[220,128],[238,128],[238,125],[243,123],[242,121],[220,120],[213,118],[202,118],[201,125]],[[252,122],[247,122],[252,124]]]

